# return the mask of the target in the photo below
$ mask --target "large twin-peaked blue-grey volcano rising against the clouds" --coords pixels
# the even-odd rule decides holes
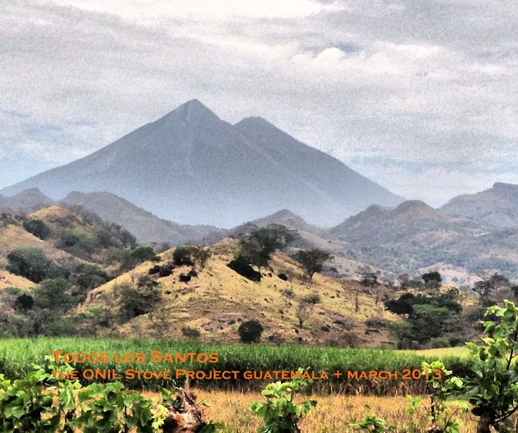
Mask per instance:
[[[2,191],[109,191],[179,223],[232,227],[281,208],[332,225],[402,198],[259,118],[231,125],[198,100],[63,167]]]

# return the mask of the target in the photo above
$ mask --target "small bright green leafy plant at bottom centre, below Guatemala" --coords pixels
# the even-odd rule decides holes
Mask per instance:
[[[299,368],[298,372],[302,375],[303,369]],[[258,429],[258,433],[300,432],[299,421],[308,415],[317,402],[308,400],[295,404],[294,397],[310,382],[306,379],[293,379],[284,383],[268,384],[261,393],[266,399],[265,403],[254,402],[250,405],[250,410],[263,418],[263,426]]]

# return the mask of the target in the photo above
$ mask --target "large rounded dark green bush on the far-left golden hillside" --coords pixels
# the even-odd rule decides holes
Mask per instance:
[[[16,275],[40,283],[45,278],[56,278],[61,274],[58,266],[47,259],[40,248],[19,247],[7,254],[7,270]]]

